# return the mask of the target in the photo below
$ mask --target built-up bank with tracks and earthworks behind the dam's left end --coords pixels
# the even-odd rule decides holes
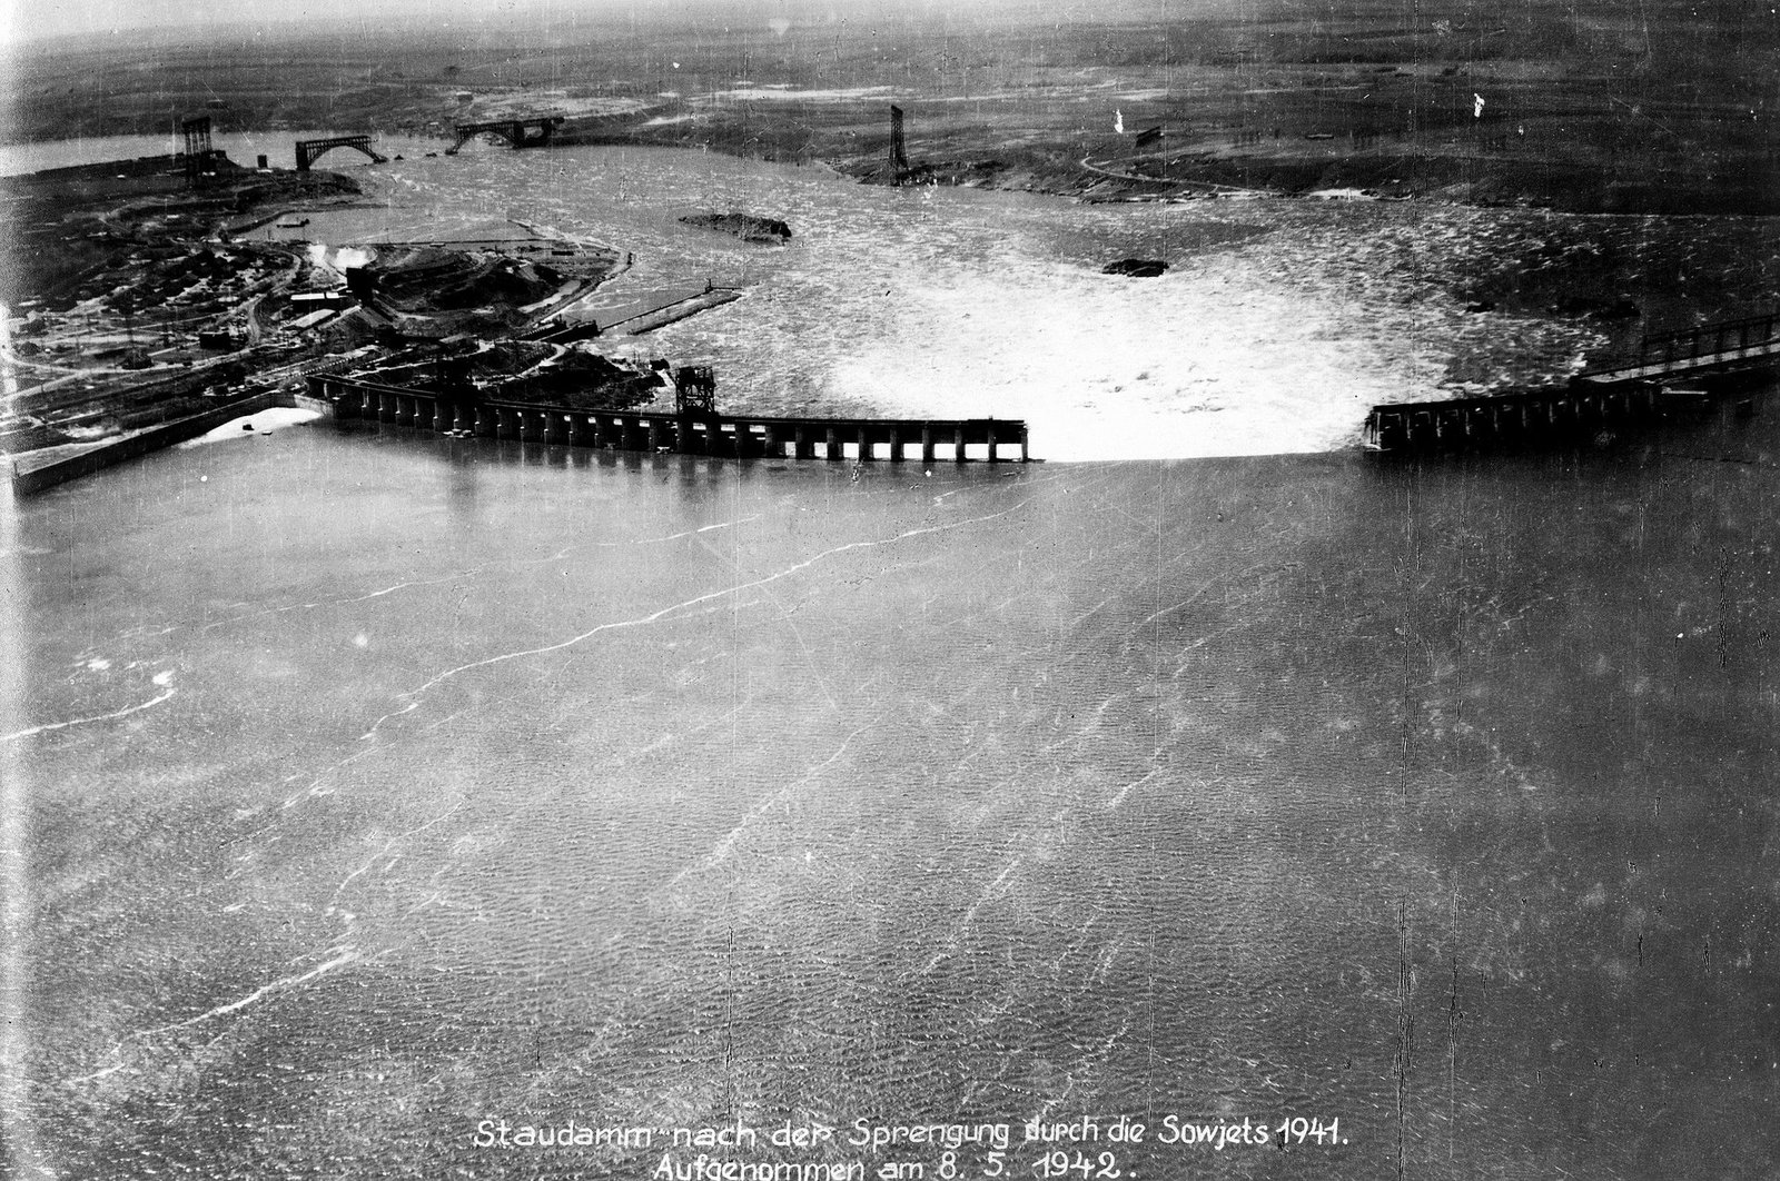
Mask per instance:
[[[351,263],[301,237],[249,237],[274,221],[301,235],[308,217],[281,210],[356,199],[345,176],[244,169],[221,153],[194,169],[144,157],[0,178],[0,302],[14,317],[0,345],[0,454],[205,413],[397,340],[518,334],[618,265],[516,224],[449,245],[377,244]],[[351,292],[349,267],[374,286]],[[571,359],[543,352],[525,368]]]

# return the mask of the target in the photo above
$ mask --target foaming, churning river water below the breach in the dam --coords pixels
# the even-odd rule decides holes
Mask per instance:
[[[621,283],[748,286],[630,345],[714,363],[726,406],[1025,418],[1048,459],[1347,446],[1369,406],[1438,397],[1454,358],[1499,354],[1497,384],[1552,379],[1591,340],[1574,324],[1479,318],[1447,292],[1479,254],[1561,233],[1525,212],[1088,206],[611,148],[409,158],[367,176],[392,229],[523,217],[632,251]],[[675,221],[710,208],[783,219],[794,238],[744,245]],[[345,231],[377,233],[363,219]],[[1100,274],[1132,254],[1171,269]]]

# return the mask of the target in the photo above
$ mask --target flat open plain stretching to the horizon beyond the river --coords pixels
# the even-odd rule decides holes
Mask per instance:
[[[1369,189],[1579,212],[1780,212],[1768,4],[1214,0],[680,7],[473,30],[50,43],[11,139],[219,126],[570,135],[1100,199]],[[851,16],[849,16],[851,12]],[[1145,135],[1150,132],[1150,135]]]

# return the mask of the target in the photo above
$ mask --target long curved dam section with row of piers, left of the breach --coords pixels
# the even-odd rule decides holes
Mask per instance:
[[[523,443],[721,459],[1031,462],[1027,425],[1011,418],[787,418],[468,402],[429,390],[328,374],[308,377],[308,393],[328,402],[340,420],[459,430]]]

